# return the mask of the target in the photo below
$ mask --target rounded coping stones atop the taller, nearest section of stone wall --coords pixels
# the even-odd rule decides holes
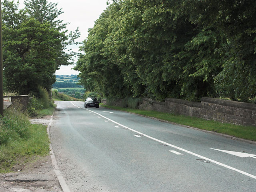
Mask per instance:
[[[252,103],[244,103],[244,102],[216,99],[216,98],[210,98],[210,97],[202,97],[201,101],[256,111],[256,104],[252,104]]]

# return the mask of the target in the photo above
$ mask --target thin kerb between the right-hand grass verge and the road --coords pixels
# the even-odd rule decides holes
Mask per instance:
[[[107,108],[107,107],[104,107],[104,108]],[[112,109],[112,108],[109,108],[109,109]],[[118,109],[112,109],[112,110],[122,111],[122,110],[118,110]],[[219,135],[219,136],[223,136],[223,137],[226,137],[226,138],[230,138],[230,139],[234,139],[234,140],[238,140],[238,141],[242,141],[242,142],[247,142],[247,143],[256,145],[256,142],[255,141],[251,141],[251,140],[241,139],[241,138],[237,138],[237,137],[226,135],[226,134],[222,134],[222,133],[216,133],[216,132],[213,132],[213,131],[198,129],[198,128],[190,127],[190,126],[187,126],[187,125],[182,125],[182,124],[178,124],[178,123],[174,123],[174,122],[158,119],[158,118],[155,118],[155,117],[144,116],[144,115],[140,115],[140,114],[136,114],[136,113],[132,113],[132,112],[128,112],[128,111],[122,111],[122,112],[130,113],[130,114],[135,114],[135,115],[138,115],[138,116],[142,116],[142,117],[158,120],[158,121],[161,121],[161,122],[166,122],[166,123],[170,123],[170,124],[173,124],[173,125],[178,125],[178,126],[182,126],[182,127],[186,127],[186,128],[191,128],[191,129],[207,132],[207,133],[210,133],[210,134]]]

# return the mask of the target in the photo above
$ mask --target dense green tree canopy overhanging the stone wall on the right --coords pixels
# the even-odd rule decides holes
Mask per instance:
[[[119,0],[80,49],[80,82],[105,97],[256,96],[254,0]]]

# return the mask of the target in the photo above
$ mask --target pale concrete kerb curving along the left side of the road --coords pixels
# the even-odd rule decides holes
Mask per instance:
[[[52,125],[52,118],[53,118],[53,116],[54,116],[54,112],[53,112],[53,114],[51,116],[50,123],[47,126],[47,133],[48,133],[49,139],[50,139],[50,128],[51,128],[51,125]],[[49,147],[50,147],[50,156],[51,156],[51,159],[52,159],[52,166],[53,166],[54,172],[55,172],[55,174],[56,174],[56,176],[58,178],[58,182],[60,184],[60,187],[62,188],[63,192],[71,192],[69,187],[68,187],[68,185],[66,184],[66,181],[65,181],[62,173],[60,172],[60,169],[58,167],[58,163],[56,161],[54,152],[52,150],[52,144],[51,143],[49,144]]]

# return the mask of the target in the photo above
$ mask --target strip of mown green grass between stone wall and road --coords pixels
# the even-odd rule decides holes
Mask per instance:
[[[208,130],[216,133],[227,134],[230,136],[235,136],[237,138],[256,141],[256,127],[254,126],[242,126],[242,125],[235,125],[235,124],[229,124],[229,123],[221,123],[214,120],[205,120],[197,117],[174,115],[174,114],[168,114],[168,113],[157,112],[157,111],[146,111],[146,110],[122,108],[118,106],[108,106],[108,105],[101,105],[101,106],[112,108],[115,110],[122,110],[122,111],[131,112],[135,114],[140,114],[148,117],[154,117],[157,119],[174,122],[181,125],[191,126],[191,127],[202,129],[202,130]]]

